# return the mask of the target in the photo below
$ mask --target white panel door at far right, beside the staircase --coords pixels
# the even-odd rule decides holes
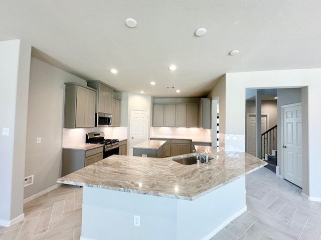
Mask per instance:
[[[282,112],[284,179],[302,187],[301,103],[284,106]]]

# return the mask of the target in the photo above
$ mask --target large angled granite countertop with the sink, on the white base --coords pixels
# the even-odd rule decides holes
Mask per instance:
[[[112,155],[57,182],[195,200],[267,164],[246,152],[217,152],[216,147],[208,146],[207,149],[213,159],[200,166],[173,161],[196,153],[165,158]]]

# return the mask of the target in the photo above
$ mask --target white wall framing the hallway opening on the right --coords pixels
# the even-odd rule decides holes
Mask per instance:
[[[319,89],[321,89],[321,69],[293,69],[256,72],[226,73],[226,133],[245,134],[245,89],[246,88],[289,88],[307,86],[302,94],[302,191],[313,199],[321,200],[321,161],[319,160]],[[237,120],[235,120],[237,119]],[[305,169],[305,170],[304,170]]]

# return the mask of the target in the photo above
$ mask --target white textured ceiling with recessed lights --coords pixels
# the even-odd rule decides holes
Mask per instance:
[[[154,97],[207,95],[226,72],[321,67],[320,29],[320,0],[0,0],[0,40],[20,38],[72,74]]]

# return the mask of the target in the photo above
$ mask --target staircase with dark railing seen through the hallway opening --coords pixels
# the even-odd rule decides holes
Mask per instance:
[[[262,156],[266,168],[275,172],[277,165],[277,125],[262,133]]]

